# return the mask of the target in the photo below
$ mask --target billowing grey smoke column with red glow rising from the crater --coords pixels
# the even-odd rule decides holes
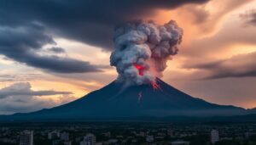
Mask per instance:
[[[165,25],[148,21],[117,28],[110,64],[119,73],[118,81],[131,85],[154,83],[166,69],[166,61],[177,54],[182,36],[183,30],[174,20]]]

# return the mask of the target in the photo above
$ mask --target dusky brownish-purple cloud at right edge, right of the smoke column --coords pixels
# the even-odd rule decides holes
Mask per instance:
[[[205,79],[256,76],[256,53],[236,55],[230,59],[202,64],[186,64],[186,69],[207,70]]]

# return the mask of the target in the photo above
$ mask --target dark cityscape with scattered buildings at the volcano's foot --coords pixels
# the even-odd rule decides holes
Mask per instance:
[[[1,125],[1,145],[255,145],[256,124],[150,122]]]

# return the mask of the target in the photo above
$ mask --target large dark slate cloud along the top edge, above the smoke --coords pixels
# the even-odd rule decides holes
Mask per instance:
[[[114,25],[142,19],[160,8],[208,0],[5,0],[0,4],[0,24],[23,25],[39,21],[56,34],[91,45],[111,48]]]

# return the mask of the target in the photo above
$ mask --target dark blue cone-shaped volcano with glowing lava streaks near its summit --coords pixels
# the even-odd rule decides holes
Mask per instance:
[[[152,85],[124,86],[117,81],[90,92],[83,98],[52,109],[2,116],[5,120],[79,120],[172,115],[212,116],[245,114],[234,106],[207,103],[178,91],[160,79]]]

